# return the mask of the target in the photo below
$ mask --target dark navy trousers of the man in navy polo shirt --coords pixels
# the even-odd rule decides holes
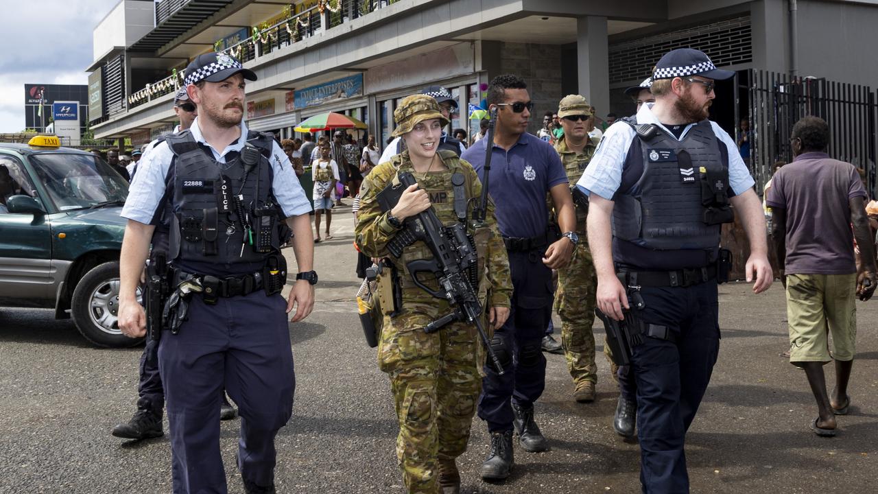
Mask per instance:
[[[487,422],[490,432],[511,430],[511,401],[530,408],[545,388],[546,360],[540,344],[551,320],[551,269],[543,265],[542,251],[509,252],[509,269],[512,308],[494,338],[501,341],[512,362],[503,375],[485,366],[479,397],[479,418]]]

